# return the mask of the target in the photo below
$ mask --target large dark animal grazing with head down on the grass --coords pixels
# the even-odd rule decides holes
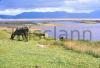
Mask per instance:
[[[18,27],[16,28],[16,30],[12,33],[11,38],[10,39],[14,39],[15,36],[17,36],[20,40],[20,36],[22,36],[23,39],[25,39],[25,41],[28,41],[28,32],[29,29],[28,27]]]

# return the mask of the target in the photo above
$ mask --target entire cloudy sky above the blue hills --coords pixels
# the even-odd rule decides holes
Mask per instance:
[[[100,0],[0,0],[0,15],[23,12],[92,13],[100,10]]]

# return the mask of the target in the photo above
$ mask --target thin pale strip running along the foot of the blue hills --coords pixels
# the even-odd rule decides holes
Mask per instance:
[[[41,21],[48,21],[48,20],[53,20],[53,21],[60,21],[60,20],[64,20],[64,21],[68,21],[68,20],[91,20],[91,21],[95,21],[95,20],[99,20],[100,18],[33,18],[33,19],[0,19],[0,21],[35,21],[35,20],[41,20]]]

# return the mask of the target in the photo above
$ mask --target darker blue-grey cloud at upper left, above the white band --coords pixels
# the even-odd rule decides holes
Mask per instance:
[[[3,9],[59,7],[63,4],[63,1],[64,0],[2,0],[0,6],[2,6]]]

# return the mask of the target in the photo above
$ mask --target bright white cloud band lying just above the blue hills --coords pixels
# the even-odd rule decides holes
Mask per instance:
[[[94,10],[76,10],[71,8],[5,9],[5,10],[0,10],[0,15],[18,15],[23,12],[56,12],[56,11],[64,11],[67,13],[91,13]]]

